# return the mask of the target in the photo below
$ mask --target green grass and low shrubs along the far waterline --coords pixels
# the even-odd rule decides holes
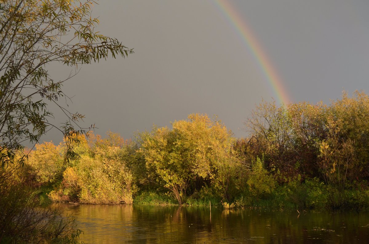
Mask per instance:
[[[141,192],[133,199],[133,204],[173,206],[178,205],[170,194],[162,192]],[[223,208],[275,208],[275,209],[369,209],[368,182],[355,182],[346,189],[332,188],[318,179],[305,182],[291,181],[277,186],[269,194],[243,194],[233,201],[215,198],[212,195],[194,194],[185,199],[183,206],[217,206]]]

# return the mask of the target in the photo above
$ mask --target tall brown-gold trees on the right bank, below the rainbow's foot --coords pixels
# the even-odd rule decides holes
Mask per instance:
[[[242,150],[264,156],[283,177],[319,177],[344,189],[346,181],[368,178],[368,117],[369,96],[360,91],[330,105],[262,102],[246,122],[250,139]]]

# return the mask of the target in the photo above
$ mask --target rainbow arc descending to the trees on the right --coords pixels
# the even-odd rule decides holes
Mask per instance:
[[[277,102],[280,104],[289,104],[292,100],[284,88],[282,80],[280,79],[277,71],[270,62],[270,59],[263,51],[258,39],[256,39],[255,34],[251,31],[240,14],[237,12],[237,10],[235,10],[229,1],[215,0],[215,3],[218,9],[231,22],[241,39],[246,43],[246,46],[248,46],[248,49],[251,51],[252,55],[254,55],[261,72],[263,73],[263,76],[273,90]]]

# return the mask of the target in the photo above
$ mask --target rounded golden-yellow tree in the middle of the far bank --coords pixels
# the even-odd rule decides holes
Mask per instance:
[[[211,184],[219,172],[226,172],[232,137],[220,121],[207,115],[191,114],[188,120],[175,121],[172,126],[172,130],[154,129],[145,137],[141,150],[149,177],[182,204],[189,192]]]

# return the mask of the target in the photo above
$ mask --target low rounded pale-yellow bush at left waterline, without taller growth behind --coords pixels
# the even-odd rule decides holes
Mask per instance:
[[[116,161],[82,156],[63,173],[61,186],[50,192],[53,201],[93,204],[132,203],[136,187],[130,171]]]

